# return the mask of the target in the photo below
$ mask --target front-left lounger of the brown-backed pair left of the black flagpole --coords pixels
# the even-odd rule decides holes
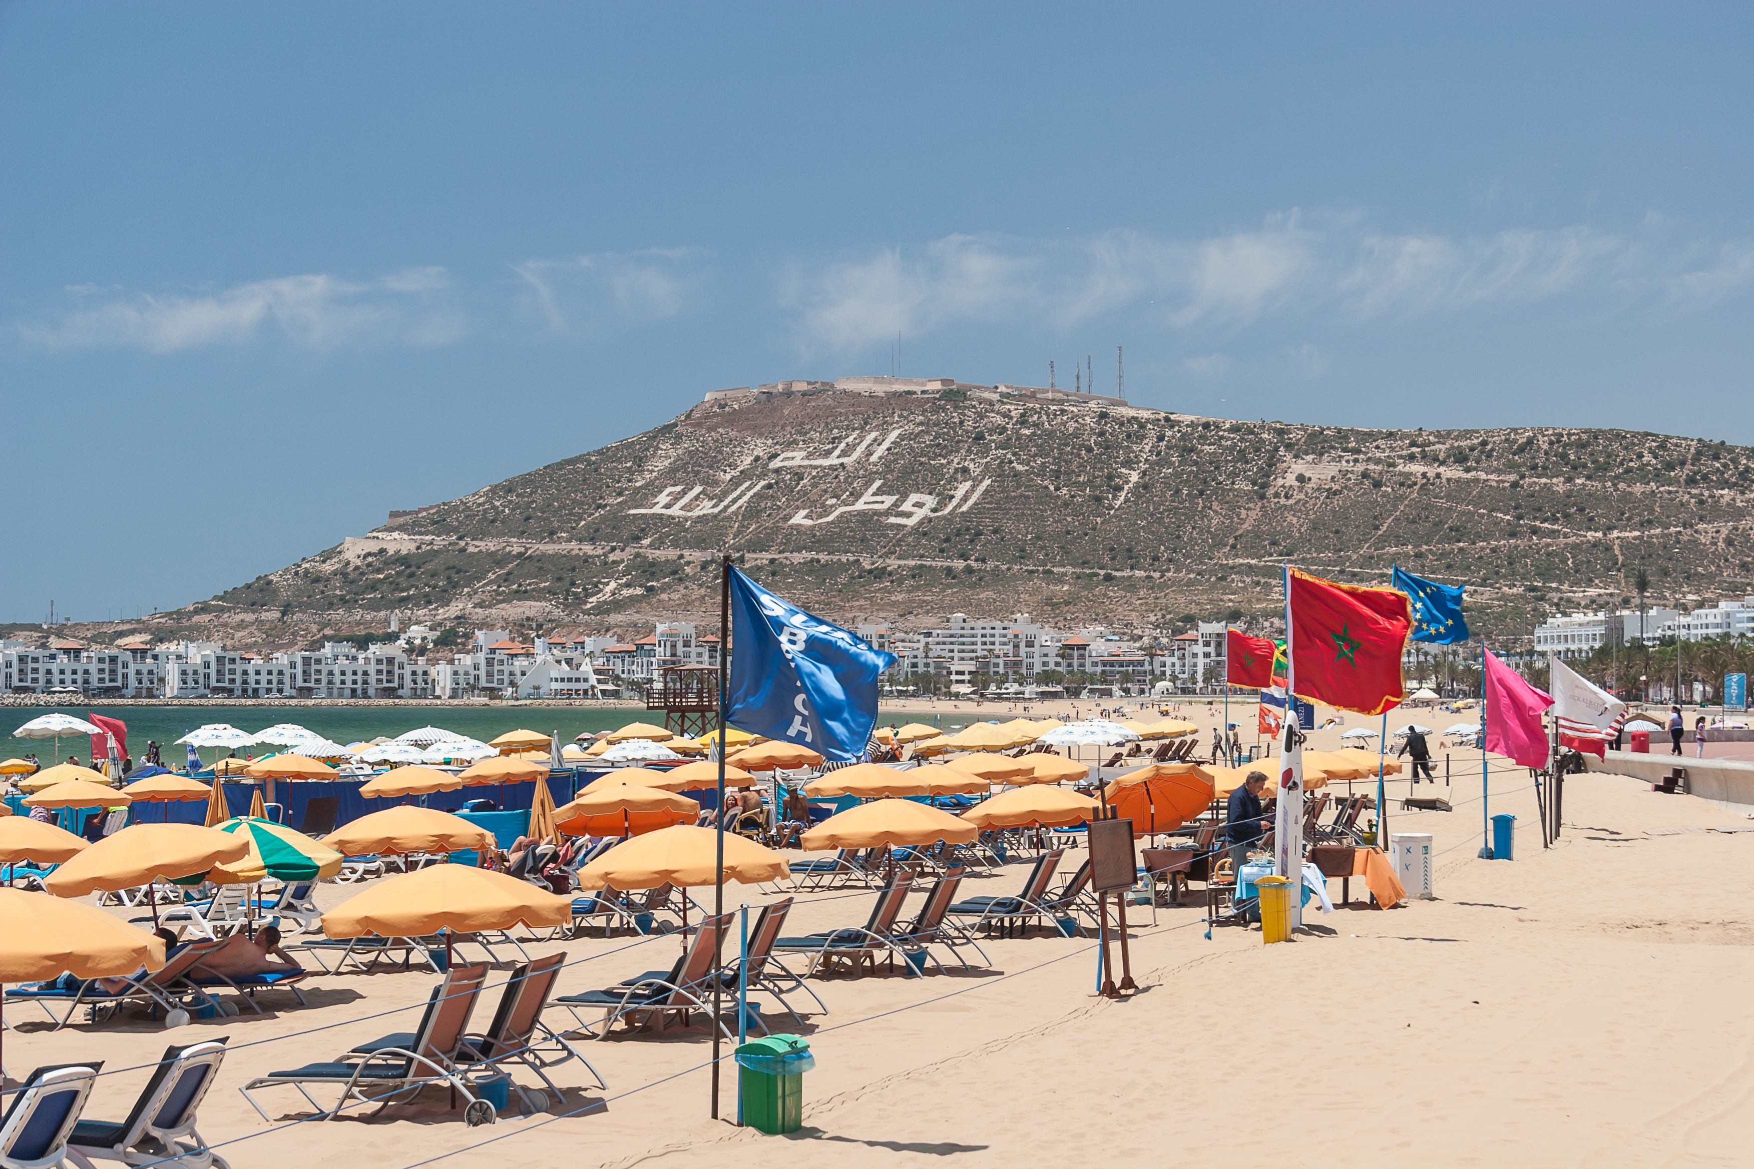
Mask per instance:
[[[396,1097],[412,1099],[430,1083],[447,1083],[468,1101],[463,1118],[470,1125],[491,1122],[493,1106],[475,1097],[454,1060],[463,1043],[463,1031],[468,1027],[468,1017],[475,1010],[475,999],[481,995],[481,983],[486,978],[486,966],[454,966],[446,973],[444,981],[433,987],[417,1029],[361,1043],[347,1052],[347,1057],[328,1064],[305,1064],[256,1076],[239,1092],[263,1120],[268,1120],[268,1113],[261,1109],[251,1092],[291,1085],[309,1101],[317,1116],[333,1120],[353,1102],[377,1104],[382,1109],[396,1102]],[[333,1108],[324,1109],[305,1085],[339,1087],[340,1099],[335,1101]]]

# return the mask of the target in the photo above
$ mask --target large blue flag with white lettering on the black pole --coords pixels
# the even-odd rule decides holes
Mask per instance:
[[[835,762],[865,757],[877,678],[895,654],[731,573],[731,684],[724,720]]]

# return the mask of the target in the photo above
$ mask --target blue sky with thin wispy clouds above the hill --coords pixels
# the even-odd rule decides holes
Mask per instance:
[[[0,7],[0,620],[889,372],[1754,442],[1747,5]]]

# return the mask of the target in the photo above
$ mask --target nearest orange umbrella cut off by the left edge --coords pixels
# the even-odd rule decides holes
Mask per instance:
[[[21,889],[0,889],[0,983],[121,978],[165,964],[165,941],[114,913]]]

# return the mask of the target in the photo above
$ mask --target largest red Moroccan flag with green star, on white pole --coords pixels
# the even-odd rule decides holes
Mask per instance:
[[[1291,670],[1296,692],[1361,715],[1407,698],[1401,650],[1412,629],[1407,594],[1359,589],[1287,568]]]

